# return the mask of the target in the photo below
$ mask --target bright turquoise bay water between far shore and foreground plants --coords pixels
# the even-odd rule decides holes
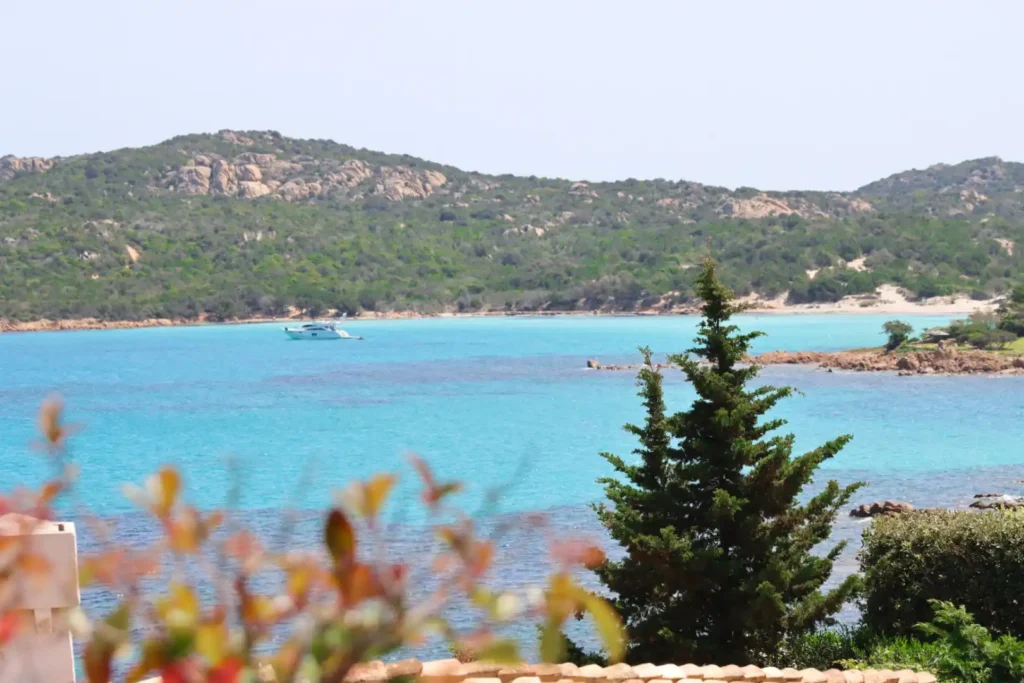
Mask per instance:
[[[902,316],[915,329],[944,324]],[[743,315],[768,336],[756,350],[835,350],[877,345],[879,315]],[[224,506],[228,490],[258,529],[269,532],[283,507],[314,510],[355,477],[403,475],[397,501],[417,484],[406,456],[425,458],[439,478],[468,483],[459,501],[495,526],[527,511],[549,513],[560,531],[600,537],[587,504],[610,472],[602,451],[629,456],[623,423],[642,419],[631,373],[585,369],[588,358],[635,362],[690,346],[696,318],[496,317],[357,322],[365,341],[291,341],[278,325],[0,335],[2,488],[38,482],[46,463],[30,447],[35,413],[60,392],[68,418],[83,425],[72,441],[79,497],[118,523],[123,541],[142,543],[152,525],[119,493],[162,463],[178,465],[189,500]],[[909,377],[775,367],[762,379],[801,393],[778,409],[812,447],[842,433],[852,443],[823,475],[863,480],[856,503],[896,499],[915,506],[963,506],[982,490],[1020,493],[1024,478],[1024,378]],[[671,409],[691,394],[667,380]],[[73,513],[69,510],[69,515]],[[416,529],[416,505],[392,519]],[[862,522],[843,517],[837,539],[856,541]],[[317,520],[303,517],[295,543],[311,545]],[[94,541],[82,531],[83,546]],[[424,550],[410,530],[399,552]],[[503,537],[499,581],[517,585],[543,570],[546,545],[519,531]],[[847,553],[840,573],[855,566]],[[87,595],[106,602],[110,596]],[[855,616],[848,613],[848,617]],[[437,652],[433,652],[436,654]]]

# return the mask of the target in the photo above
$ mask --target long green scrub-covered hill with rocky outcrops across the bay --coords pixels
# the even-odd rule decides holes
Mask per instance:
[[[4,157],[0,318],[666,308],[708,245],[739,294],[985,298],[1022,280],[1022,188],[996,158],[774,193],[493,176],[273,131]]]

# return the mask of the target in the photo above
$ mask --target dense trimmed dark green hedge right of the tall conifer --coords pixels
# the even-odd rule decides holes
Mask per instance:
[[[909,635],[929,600],[965,605],[981,626],[1024,636],[1024,513],[928,510],[879,517],[864,531],[863,621]]]

